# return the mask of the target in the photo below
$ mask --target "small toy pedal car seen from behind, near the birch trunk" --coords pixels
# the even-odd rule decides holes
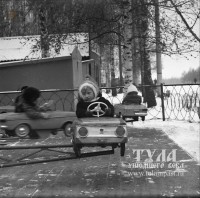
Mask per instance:
[[[147,115],[147,107],[143,104],[116,104],[114,108],[115,115],[122,117],[124,120],[132,118],[131,121],[138,121],[138,118],[141,117],[144,121]]]

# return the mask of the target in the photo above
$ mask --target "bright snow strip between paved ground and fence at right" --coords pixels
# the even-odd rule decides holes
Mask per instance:
[[[162,130],[168,137],[200,163],[200,123],[187,121],[146,120],[127,124],[137,128]]]

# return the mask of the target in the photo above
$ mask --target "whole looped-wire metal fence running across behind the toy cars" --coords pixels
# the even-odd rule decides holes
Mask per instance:
[[[148,109],[146,119],[199,122],[200,84],[161,84],[152,88],[155,91],[157,105]],[[103,96],[113,105],[122,102],[123,94],[119,93],[120,87],[101,88],[101,90]],[[41,90],[41,93],[41,103],[54,100],[55,110],[75,111],[74,100],[77,99],[77,90],[52,89]],[[18,91],[0,92],[0,106],[13,105],[14,98],[18,94],[20,94]]]

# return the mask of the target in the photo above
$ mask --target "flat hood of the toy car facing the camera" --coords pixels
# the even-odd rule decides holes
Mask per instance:
[[[108,126],[118,126],[126,125],[126,122],[121,118],[113,117],[90,117],[90,118],[79,118],[74,121],[75,125],[84,125],[84,126],[99,126],[99,125],[108,125]]]

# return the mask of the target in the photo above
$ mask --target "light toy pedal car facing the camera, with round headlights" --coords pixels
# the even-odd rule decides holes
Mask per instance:
[[[81,148],[94,146],[111,146],[113,150],[119,146],[120,154],[124,156],[125,143],[128,141],[126,122],[121,118],[100,117],[104,114],[100,106],[93,110],[97,111],[96,117],[79,118],[72,124],[72,142],[76,156],[81,156]]]

